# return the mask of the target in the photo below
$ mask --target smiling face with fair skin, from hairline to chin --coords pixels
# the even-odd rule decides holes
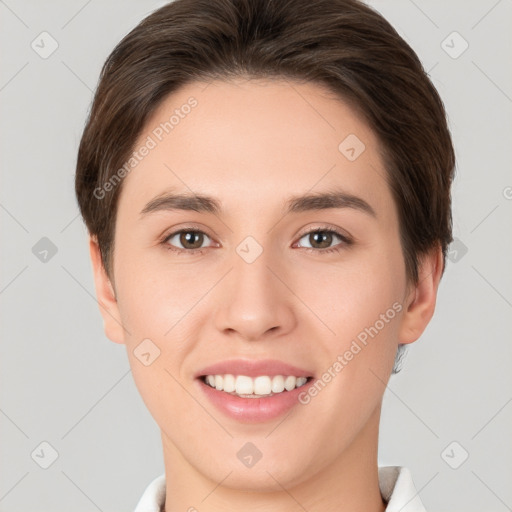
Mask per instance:
[[[166,456],[216,482],[230,474],[233,488],[275,489],[374,438],[397,344],[430,309],[411,319],[422,295],[406,281],[372,130],[318,85],[216,81],[169,96],[134,149],[115,299],[102,302]],[[241,398],[205,374],[268,377],[257,392],[276,392]],[[278,393],[287,374],[307,381]]]

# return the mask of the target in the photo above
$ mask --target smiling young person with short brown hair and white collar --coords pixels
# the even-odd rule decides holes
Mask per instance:
[[[424,510],[377,441],[434,312],[454,165],[416,54],[357,0],[176,0],[117,45],[76,193],[161,430],[137,512]]]

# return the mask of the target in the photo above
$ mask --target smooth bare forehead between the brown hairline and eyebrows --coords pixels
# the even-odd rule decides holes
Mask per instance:
[[[376,209],[390,201],[371,128],[313,83],[188,84],[148,119],[134,151],[120,209],[142,207],[168,188],[213,195],[226,207],[282,205],[283,196],[340,185]]]

